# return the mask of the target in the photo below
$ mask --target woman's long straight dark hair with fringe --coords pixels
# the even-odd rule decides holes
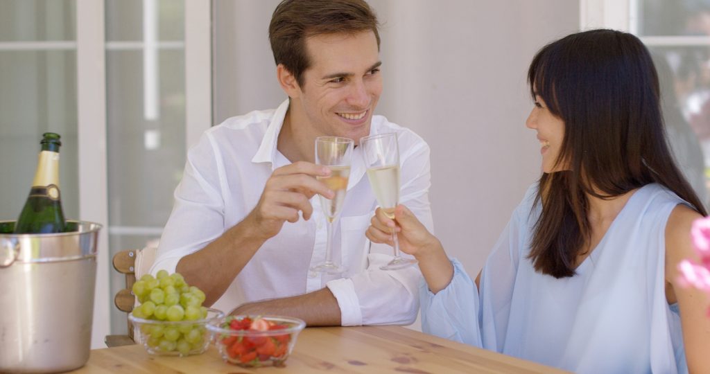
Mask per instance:
[[[530,92],[564,122],[557,165],[543,173],[529,258],[554,277],[575,274],[591,229],[587,194],[618,197],[658,183],[706,211],[674,164],[663,125],[658,77],[638,38],[613,30],[568,35],[542,48],[528,70]]]

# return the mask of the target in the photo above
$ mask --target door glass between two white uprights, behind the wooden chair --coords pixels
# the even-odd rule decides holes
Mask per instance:
[[[159,25],[160,39],[168,33],[171,40],[182,42],[184,2],[152,2],[155,19],[151,22],[153,27]],[[142,41],[143,1],[107,0],[106,4],[107,39]],[[144,59],[146,53],[154,58]],[[186,154],[185,49],[141,43],[129,49],[109,46],[106,56],[109,252],[113,256],[125,249],[154,246],[173,209],[173,191],[182,177]],[[125,277],[111,273],[111,294],[124,287]],[[126,314],[116,308],[111,308],[111,331],[126,333]]]

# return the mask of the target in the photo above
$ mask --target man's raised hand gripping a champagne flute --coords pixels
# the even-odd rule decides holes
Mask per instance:
[[[258,204],[244,222],[249,223],[256,236],[266,241],[281,231],[285,221],[298,221],[299,211],[303,219],[310,219],[313,213],[311,197],[321,194],[332,199],[335,196],[331,189],[315,179],[328,175],[330,170],[327,167],[305,161],[279,167],[266,181]]]

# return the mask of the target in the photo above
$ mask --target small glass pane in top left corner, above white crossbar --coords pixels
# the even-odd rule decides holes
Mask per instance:
[[[76,40],[75,0],[0,0],[0,42]]]

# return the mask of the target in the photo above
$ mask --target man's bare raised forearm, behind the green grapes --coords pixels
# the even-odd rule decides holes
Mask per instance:
[[[204,305],[210,306],[224,294],[264,241],[253,235],[247,217],[200,251],[181,258],[176,271],[185,277],[185,282],[204,292]]]

